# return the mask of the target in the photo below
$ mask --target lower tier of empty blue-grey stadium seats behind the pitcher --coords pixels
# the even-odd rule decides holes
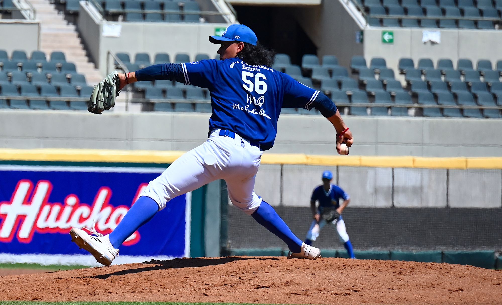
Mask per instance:
[[[414,7],[413,1],[406,2],[406,5],[408,7],[405,12]],[[16,61],[11,60],[13,55]],[[188,54],[117,54],[131,71],[139,69],[140,65],[170,62],[171,56],[174,56],[174,62],[178,63],[209,59],[207,54],[197,54],[194,58]],[[284,71],[307,86],[321,90],[335,103],[342,104],[340,109],[343,110],[343,103],[352,103],[352,106],[347,107],[351,115],[408,115],[407,107],[392,106],[389,109],[388,106],[356,105],[374,102],[408,107],[416,103],[417,106],[412,107],[415,110],[411,110],[410,114],[428,117],[501,117],[500,109],[496,107],[502,106],[502,60],[472,62],[460,58],[453,62],[448,58],[438,61],[421,58],[414,62],[410,58],[402,58],[399,60],[398,69],[406,80],[404,87],[404,83],[401,83],[402,76],[399,76],[401,81],[396,79],[397,71],[387,67],[383,58],[371,58],[366,62],[364,57],[354,56],[350,61],[351,73],[339,65],[335,56],[324,56],[322,60],[315,55],[304,56],[302,66],[292,64],[291,58],[286,54],[278,54],[276,60],[275,69]],[[27,56],[24,52],[9,54],[0,50],[0,63],[0,94],[7,97],[2,98],[1,108],[86,109],[86,102],[75,101],[72,97],[87,97],[93,87],[88,86],[85,76],[78,74],[73,63],[66,62],[64,54],[53,52],[47,56],[37,51]],[[153,108],[149,109],[155,111],[211,111],[210,104],[205,103],[210,100],[207,90],[191,85],[157,80],[138,82],[133,88],[139,91],[139,94],[144,94],[147,100],[166,101],[153,103]],[[26,98],[11,103],[9,96]],[[51,100],[53,97],[68,97],[68,100]],[[183,100],[186,101],[181,102]],[[282,113],[318,112],[288,109]]]

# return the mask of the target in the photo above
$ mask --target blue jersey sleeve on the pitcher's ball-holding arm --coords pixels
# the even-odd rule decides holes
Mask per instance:
[[[320,93],[287,74],[283,74],[284,99],[283,108],[305,108],[312,109],[315,98]]]

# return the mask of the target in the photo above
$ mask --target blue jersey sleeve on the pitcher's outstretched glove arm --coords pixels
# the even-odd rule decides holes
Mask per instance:
[[[181,64],[185,85],[194,85],[201,88],[210,88],[215,82],[218,72],[218,61],[206,59],[191,63]]]

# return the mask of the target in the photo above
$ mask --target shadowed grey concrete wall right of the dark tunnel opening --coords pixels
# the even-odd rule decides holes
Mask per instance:
[[[352,5],[352,4],[350,4]],[[361,26],[338,0],[323,1],[320,6],[292,9],[297,21],[317,46],[317,55],[336,55],[340,65],[348,67],[350,58],[363,54],[355,34]]]

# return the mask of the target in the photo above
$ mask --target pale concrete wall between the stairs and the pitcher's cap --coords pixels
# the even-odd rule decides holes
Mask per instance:
[[[85,2],[80,3],[78,29],[87,51],[103,75],[106,74],[108,51],[129,53],[133,62],[136,53],[148,53],[152,61],[157,53],[168,53],[171,61],[174,61],[177,53],[187,53],[191,60],[198,53],[214,58],[218,46],[211,44],[208,37],[214,35],[215,28],[228,26],[224,23],[106,22],[121,25],[122,28],[120,37],[103,37],[103,22],[93,7]],[[113,64],[113,60],[110,63]]]

